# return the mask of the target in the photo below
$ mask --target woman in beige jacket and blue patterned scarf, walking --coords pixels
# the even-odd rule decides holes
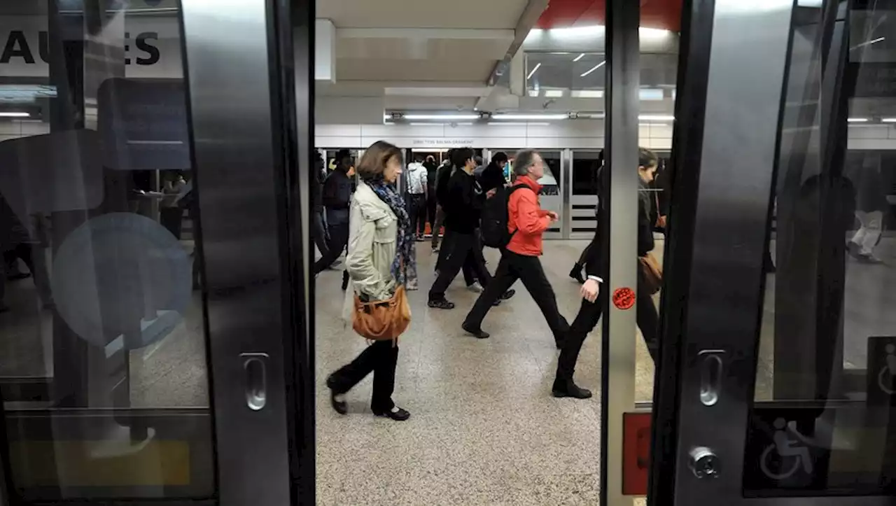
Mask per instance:
[[[395,189],[401,174],[401,150],[388,142],[375,142],[358,163],[361,182],[355,191],[349,211],[349,254],[346,271],[352,290],[346,293],[343,316],[351,320],[354,296],[364,301],[392,297],[408,280],[414,269],[413,230],[404,199]],[[395,365],[398,364],[398,341],[375,341],[350,364],[327,378],[333,409],[340,415],[348,412],[344,395],[367,374],[374,373],[374,393],[370,408],[375,416],[407,420],[410,414],[395,406]]]

